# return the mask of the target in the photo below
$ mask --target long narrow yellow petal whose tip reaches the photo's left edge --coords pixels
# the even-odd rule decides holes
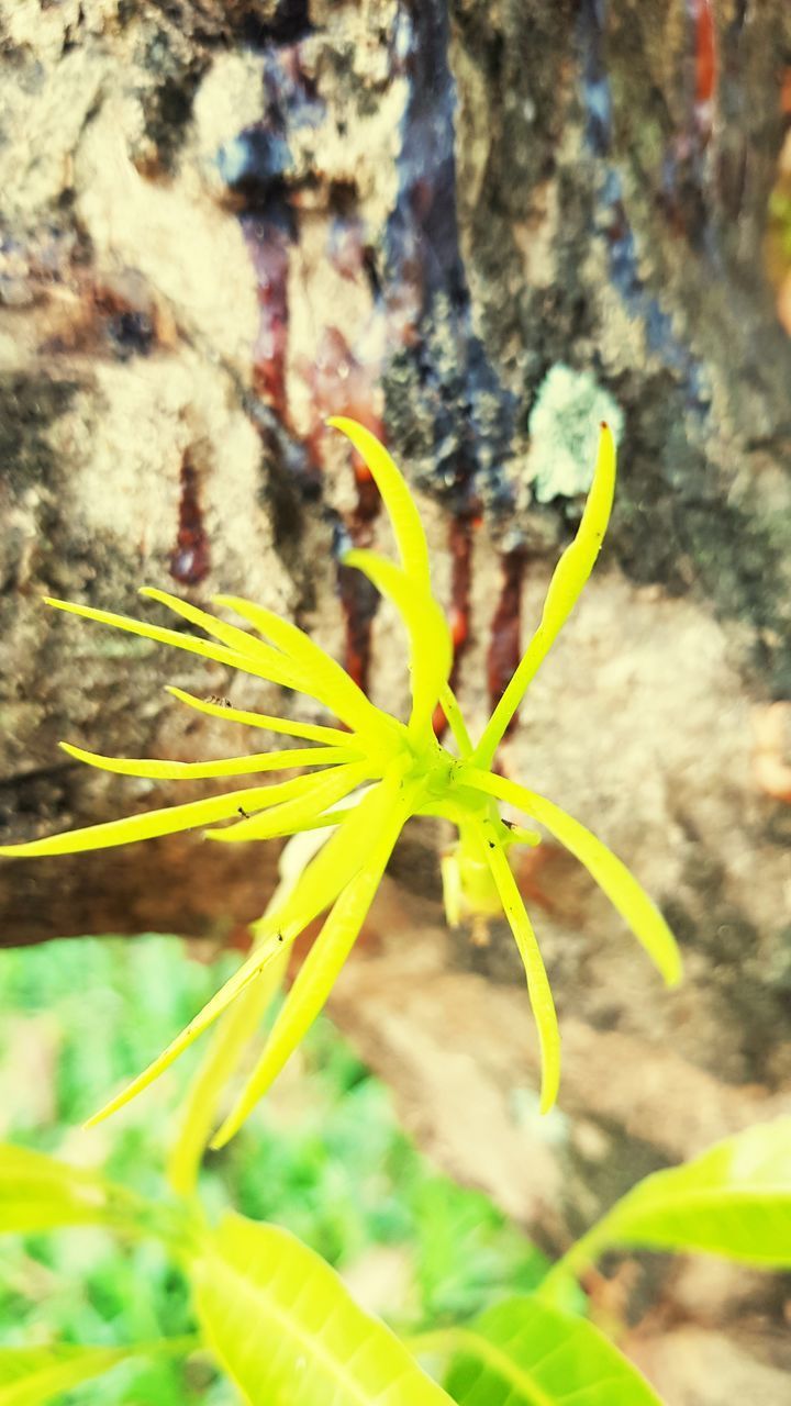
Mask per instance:
[[[297,780],[310,780],[303,776]],[[291,785],[286,782],[284,785]],[[13,859],[45,858],[48,855],[76,855],[86,849],[113,849],[138,839],[155,839],[158,835],[175,835],[180,830],[194,830],[218,820],[235,815],[239,807],[256,810],[270,804],[274,786],[253,786],[229,792],[225,796],[210,796],[186,806],[169,806],[166,810],[149,810],[144,815],[128,815],[124,820],[110,820],[103,825],[87,825],[63,835],[49,835],[45,839],[31,839],[21,845],[0,845],[0,855]]]

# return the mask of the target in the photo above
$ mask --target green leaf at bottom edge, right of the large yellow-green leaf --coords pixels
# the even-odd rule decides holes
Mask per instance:
[[[419,1351],[453,1351],[445,1386],[459,1406],[659,1406],[593,1323],[536,1298],[508,1299],[470,1327],[426,1334]]]

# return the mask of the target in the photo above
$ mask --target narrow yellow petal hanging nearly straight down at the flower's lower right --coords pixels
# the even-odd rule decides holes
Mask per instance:
[[[508,918],[525,967],[528,994],[540,1043],[540,1111],[542,1114],[548,1114],[557,1098],[557,1088],[560,1085],[560,1032],[557,1029],[552,987],[549,986],[532,922],[522,903],[517,880],[511,873],[505,851],[500,844],[497,830],[487,820],[481,821],[480,825],[477,823],[473,824],[480,834],[481,858],[486,858],[491,869],[491,877],[497,884],[505,917]]]

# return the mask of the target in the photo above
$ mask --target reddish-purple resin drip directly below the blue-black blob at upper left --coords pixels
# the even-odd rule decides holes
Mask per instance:
[[[289,233],[255,215],[242,219],[256,276],[259,328],[253,346],[253,389],[287,423]]]

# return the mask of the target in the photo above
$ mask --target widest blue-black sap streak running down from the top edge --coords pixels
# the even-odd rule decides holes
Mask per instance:
[[[445,0],[403,11],[398,63],[408,80],[398,194],[384,240],[383,301],[393,356],[411,360],[434,422],[432,488],[462,510],[507,506],[515,396],[473,332],[456,202],[456,84]],[[498,415],[491,416],[491,405]],[[494,419],[494,423],[493,423]]]

